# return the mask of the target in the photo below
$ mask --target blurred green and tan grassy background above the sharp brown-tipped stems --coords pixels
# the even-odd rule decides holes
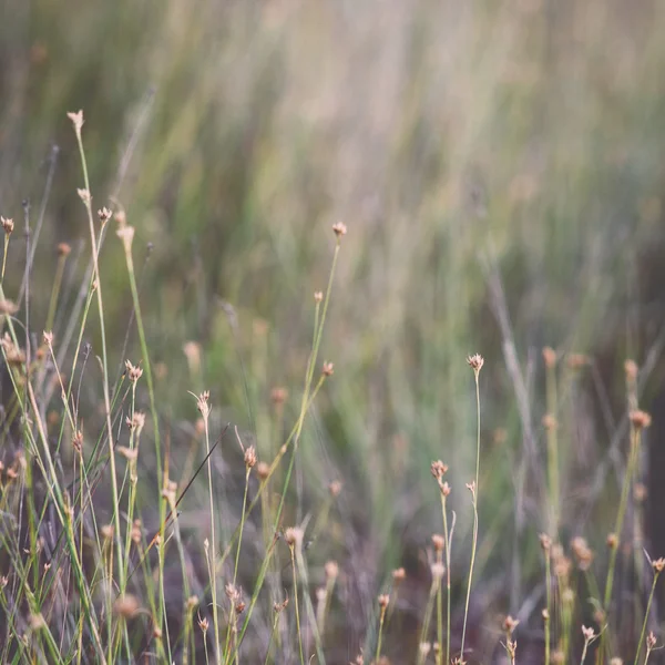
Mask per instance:
[[[121,205],[136,227],[170,422],[193,422],[187,391],[207,388],[219,422],[272,459],[270,395],[288,389],[290,426],[330,226],[347,224],[321,351],[335,376],[293,509],[317,510],[342,481],[335,529],[310,548],[356,580],[342,657],[393,567],[422,575],[427,594],[441,529],[433,459],[450,466],[453,557],[467,565],[470,354],[485,358],[481,615],[523,610],[540,574],[544,346],[562,359],[562,525],[604,542],[626,444],[623,362],[644,368],[647,410],[665,374],[664,3],[3,0],[1,11],[0,212],[21,219],[28,198],[37,216],[48,191],[34,327],[57,244],[74,249],[70,304],[88,260],[66,117],[83,109],[95,208]],[[20,253],[10,260],[18,284]],[[101,264],[120,364],[131,298],[114,234]],[[221,454],[239,460],[234,446]],[[651,468],[665,461],[654,453]],[[649,494],[656,518],[658,501]]]

